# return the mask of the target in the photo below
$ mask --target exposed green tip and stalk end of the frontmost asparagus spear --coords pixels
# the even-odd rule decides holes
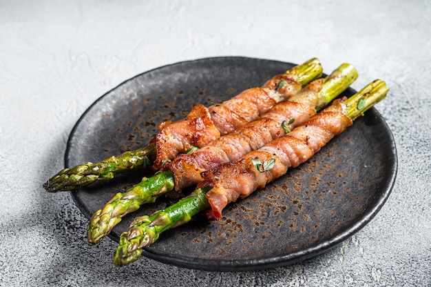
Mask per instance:
[[[365,88],[350,97],[346,102],[346,115],[355,120],[366,110],[386,97],[388,88],[381,80],[373,81]],[[158,210],[152,215],[136,218],[128,231],[120,236],[120,244],[114,254],[114,264],[123,266],[136,261],[143,248],[153,244],[160,234],[189,222],[194,215],[209,209],[206,193],[210,187],[199,188],[176,204]]]

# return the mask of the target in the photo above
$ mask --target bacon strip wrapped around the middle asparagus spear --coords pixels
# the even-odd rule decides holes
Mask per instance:
[[[162,170],[174,172],[177,191],[198,184],[202,181],[201,173],[205,170],[240,159],[248,152],[285,135],[283,121],[294,119],[295,121],[288,126],[289,130],[293,130],[315,115],[315,106],[323,83],[324,79],[313,81],[291,100],[277,103],[260,119],[212,141],[189,155],[178,155]]]

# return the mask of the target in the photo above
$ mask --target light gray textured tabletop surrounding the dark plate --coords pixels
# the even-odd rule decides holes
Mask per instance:
[[[429,1],[0,1],[0,286],[431,286]],[[70,194],[43,182],[63,168],[85,109],[122,81],[169,63],[245,56],[330,72],[356,66],[399,169],[386,205],[341,246],[293,266],[209,273],[141,258],[112,264],[90,246]]]

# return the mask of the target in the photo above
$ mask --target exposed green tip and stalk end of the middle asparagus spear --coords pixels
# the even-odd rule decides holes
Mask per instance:
[[[318,108],[323,108],[342,91],[346,90],[357,79],[357,70],[343,63],[331,73],[319,92]],[[300,96],[300,94],[298,95]],[[96,244],[111,232],[121,218],[130,212],[138,210],[142,204],[154,202],[157,197],[174,189],[174,172],[170,170],[159,172],[144,179],[126,192],[117,193],[106,205],[97,210],[87,226],[87,240]]]

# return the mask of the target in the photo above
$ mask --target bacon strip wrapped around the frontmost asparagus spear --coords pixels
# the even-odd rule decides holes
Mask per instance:
[[[288,168],[304,163],[335,135],[351,126],[353,121],[344,115],[345,99],[335,100],[331,106],[311,117],[302,126],[267,143],[259,150],[249,152],[237,161],[203,172],[204,181],[198,184],[198,188],[213,187],[207,193],[212,213],[209,217],[221,218],[222,210],[227,204],[249,196],[257,188],[263,188],[286,174]],[[260,172],[255,168],[252,159],[262,163],[275,159],[275,164],[270,170]]]

